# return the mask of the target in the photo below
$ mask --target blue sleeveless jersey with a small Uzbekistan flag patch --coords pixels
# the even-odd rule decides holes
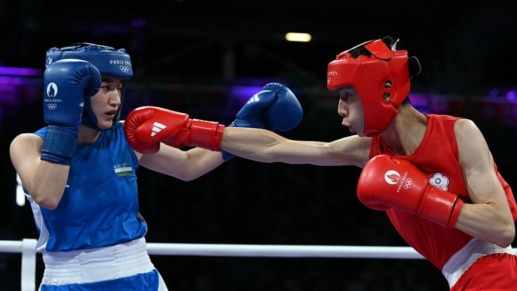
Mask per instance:
[[[44,139],[46,133],[44,127],[35,134]],[[94,249],[143,237],[147,226],[138,212],[138,165],[121,123],[92,144],[78,144],[57,208],[40,207],[27,195],[40,234],[37,250]]]

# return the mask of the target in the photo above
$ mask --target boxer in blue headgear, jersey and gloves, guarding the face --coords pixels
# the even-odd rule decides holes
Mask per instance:
[[[189,181],[221,165],[222,154],[165,144],[141,154],[129,146],[118,121],[133,74],[124,50],[81,43],[50,49],[46,61],[48,126],[17,136],[10,147],[39,232],[40,290],[167,290],[146,251],[135,170],[141,165]],[[275,92],[276,103],[260,114],[246,114],[246,106],[239,113],[249,115],[248,126],[282,126],[286,104],[301,114],[296,97],[286,96]],[[301,115],[294,119],[290,127]]]

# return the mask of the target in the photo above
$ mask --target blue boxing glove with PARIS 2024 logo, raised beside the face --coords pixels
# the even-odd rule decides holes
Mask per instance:
[[[43,118],[47,134],[41,148],[41,159],[70,165],[77,146],[84,98],[100,89],[99,70],[81,60],[60,60],[43,74]]]

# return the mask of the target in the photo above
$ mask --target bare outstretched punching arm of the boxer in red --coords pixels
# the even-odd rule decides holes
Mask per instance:
[[[264,129],[224,128],[221,149],[253,161],[364,167],[371,138],[349,136],[332,142],[289,140]]]

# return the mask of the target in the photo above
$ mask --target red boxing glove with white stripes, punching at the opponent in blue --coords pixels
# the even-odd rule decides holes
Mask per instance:
[[[129,113],[124,135],[137,152],[154,154],[160,142],[174,148],[200,147],[219,151],[224,125],[190,119],[189,115],[158,107],[140,107]]]

